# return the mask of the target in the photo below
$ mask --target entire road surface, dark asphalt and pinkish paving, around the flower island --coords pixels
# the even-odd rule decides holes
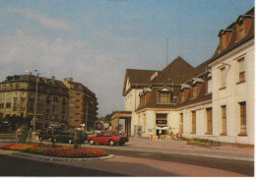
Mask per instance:
[[[0,135],[1,145],[14,141],[17,142],[15,136]],[[160,152],[155,148],[144,151],[127,146],[83,147],[101,148],[116,157],[70,162],[0,154],[1,176],[254,176],[253,161]]]

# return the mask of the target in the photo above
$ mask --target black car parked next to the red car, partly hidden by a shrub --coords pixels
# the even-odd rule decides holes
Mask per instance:
[[[77,144],[84,144],[87,141],[88,134],[86,132],[77,131]],[[64,131],[53,137],[55,143],[73,144],[75,140],[75,133],[72,131]]]

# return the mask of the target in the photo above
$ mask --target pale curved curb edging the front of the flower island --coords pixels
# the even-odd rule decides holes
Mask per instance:
[[[65,158],[65,157],[52,157],[52,156],[45,156],[45,155],[38,155],[38,154],[31,154],[31,153],[24,153],[24,152],[11,152],[10,154],[13,155],[20,155],[24,157],[34,157],[39,158],[42,160],[50,160],[50,161],[85,161],[85,160],[103,160],[115,157],[115,155],[108,154],[107,156],[103,157],[90,157],[90,158]]]

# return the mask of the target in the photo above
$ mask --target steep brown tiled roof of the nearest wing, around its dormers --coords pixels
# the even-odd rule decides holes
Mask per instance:
[[[228,42],[226,48],[223,51],[219,52],[220,51],[220,46],[218,46],[215,54],[213,55],[213,57],[211,58],[211,60],[208,63],[211,63],[211,62],[215,61],[217,58],[223,56],[227,52],[233,50],[234,48],[240,46],[241,44],[247,42],[248,40],[254,38],[254,7],[251,10],[249,10],[245,15],[253,15],[249,30],[247,31],[245,36],[237,41],[236,40],[236,35],[237,35],[236,26],[235,26],[235,23],[232,23],[227,28],[229,30],[232,30],[232,34],[230,36],[230,39],[229,39],[229,42]]]

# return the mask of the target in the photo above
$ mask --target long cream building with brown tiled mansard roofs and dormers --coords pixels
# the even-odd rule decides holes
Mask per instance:
[[[212,58],[192,67],[177,57],[162,71],[127,69],[124,111],[130,136],[182,133],[224,143],[254,145],[254,8],[219,33]],[[248,93],[248,94],[247,94]]]

